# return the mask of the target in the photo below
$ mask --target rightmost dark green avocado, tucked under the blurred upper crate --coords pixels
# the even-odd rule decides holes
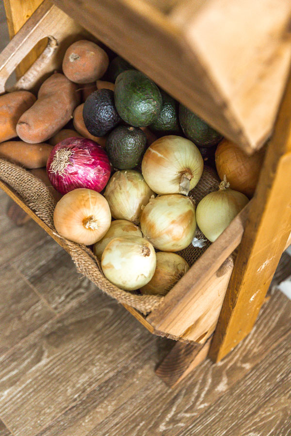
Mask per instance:
[[[211,147],[223,138],[220,133],[182,104],[179,107],[179,121],[185,136],[200,147]]]

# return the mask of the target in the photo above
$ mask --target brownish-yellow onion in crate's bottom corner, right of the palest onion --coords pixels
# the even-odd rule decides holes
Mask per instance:
[[[156,253],[157,266],[152,279],[141,288],[142,294],[166,295],[188,271],[187,262],[176,253]]]

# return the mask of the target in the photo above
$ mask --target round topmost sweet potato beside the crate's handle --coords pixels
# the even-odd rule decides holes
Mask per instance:
[[[108,65],[107,53],[97,44],[83,39],[66,50],[63,72],[72,82],[90,83],[102,77]]]

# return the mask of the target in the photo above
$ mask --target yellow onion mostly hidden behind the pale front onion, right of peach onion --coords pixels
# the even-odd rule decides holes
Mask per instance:
[[[102,253],[109,242],[118,236],[143,236],[140,229],[130,221],[125,219],[116,219],[112,221],[108,232],[100,241],[94,244],[93,251],[95,256],[101,260]]]

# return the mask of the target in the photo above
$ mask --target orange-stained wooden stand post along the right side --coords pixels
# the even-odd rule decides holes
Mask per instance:
[[[209,356],[219,361],[251,331],[291,230],[291,79],[269,143]]]

